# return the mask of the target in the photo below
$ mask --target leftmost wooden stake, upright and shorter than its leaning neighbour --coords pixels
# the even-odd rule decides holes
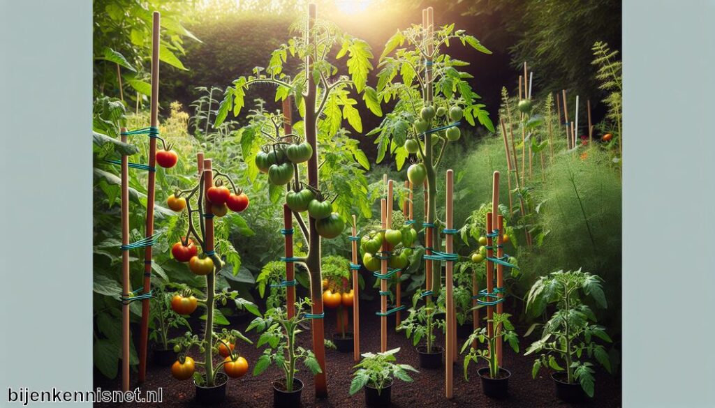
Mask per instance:
[[[127,128],[122,127],[121,140],[127,143]],[[122,245],[129,245],[129,161],[122,154]],[[129,297],[132,281],[129,275],[129,251],[122,251],[122,296]],[[122,304],[122,391],[129,391],[129,303]]]

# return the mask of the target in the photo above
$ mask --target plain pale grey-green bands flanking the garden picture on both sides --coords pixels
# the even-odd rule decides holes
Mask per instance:
[[[713,16],[623,1],[628,408],[715,407]],[[0,30],[0,406],[18,406],[8,387],[92,389],[92,1],[0,0]]]

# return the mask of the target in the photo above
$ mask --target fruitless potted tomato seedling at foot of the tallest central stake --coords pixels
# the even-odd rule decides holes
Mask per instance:
[[[310,307],[310,299],[305,298],[295,303],[295,315],[288,318],[287,311],[282,307],[268,309],[264,316],[256,317],[249,324],[247,331],[256,329],[261,333],[257,347],[266,345],[263,355],[256,361],[253,375],[259,375],[270,366],[276,364],[282,369],[284,377],[273,381],[273,406],[276,408],[300,407],[300,393],[303,382],[295,377],[297,362],[302,360],[312,374],[319,374],[320,365],[315,354],[303,347],[295,346],[295,337],[301,333],[300,325],[312,318],[305,310]]]

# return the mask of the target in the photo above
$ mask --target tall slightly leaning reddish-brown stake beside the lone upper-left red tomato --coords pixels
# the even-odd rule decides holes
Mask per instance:
[[[152,105],[151,126],[159,126],[159,28],[160,15],[154,11],[152,25]],[[157,162],[157,138],[149,138],[149,167],[154,168]],[[154,235],[154,189],[157,174],[149,171],[149,186],[147,186],[147,227],[145,237]],[[144,251],[144,294],[152,290],[152,246]],[[149,339],[149,299],[142,300],[142,326],[139,337],[139,382],[147,378],[147,342]]]

